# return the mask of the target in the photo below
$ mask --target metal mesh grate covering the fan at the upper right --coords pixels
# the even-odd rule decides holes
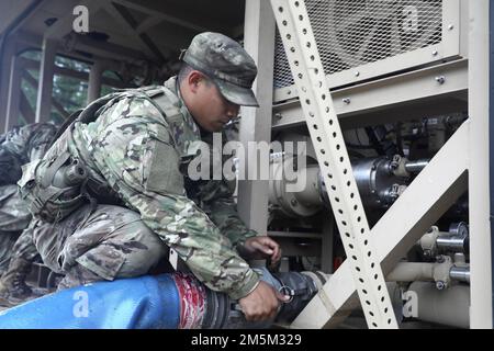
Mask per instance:
[[[441,42],[442,0],[305,0],[326,75]],[[293,78],[277,30],[274,88]]]

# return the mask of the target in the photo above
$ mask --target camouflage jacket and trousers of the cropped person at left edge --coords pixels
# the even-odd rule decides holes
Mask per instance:
[[[21,177],[21,166],[40,159],[56,127],[48,123],[15,127],[2,137],[0,145],[0,273],[7,269],[11,257],[33,260],[36,248],[31,230],[26,229],[31,214],[18,193],[15,182]],[[22,230],[26,231],[20,236]]]

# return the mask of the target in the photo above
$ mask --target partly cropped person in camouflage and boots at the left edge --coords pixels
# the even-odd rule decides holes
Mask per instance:
[[[16,127],[2,137],[0,145],[0,305],[13,306],[32,295],[25,278],[37,256],[31,214],[18,192],[21,166],[42,158],[56,127],[35,123]],[[22,234],[21,234],[22,233]]]

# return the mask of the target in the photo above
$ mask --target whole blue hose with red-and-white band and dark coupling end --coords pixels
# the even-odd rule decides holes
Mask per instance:
[[[281,288],[281,282],[266,268],[255,271],[276,290]],[[310,295],[280,306],[278,317],[283,320],[296,316],[316,288],[300,273],[279,274],[283,284]],[[33,299],[1,312],[0,329],[260,329],[272,325],[273,320],[246,321],[238,308],[231,309],[232,303],[192,275],[145,275],[77,286]]]

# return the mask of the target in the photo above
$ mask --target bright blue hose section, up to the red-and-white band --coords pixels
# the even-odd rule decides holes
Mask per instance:
[[[176,329],[179,322],[170,274],[77,286],[0,313],[1,329]]]

